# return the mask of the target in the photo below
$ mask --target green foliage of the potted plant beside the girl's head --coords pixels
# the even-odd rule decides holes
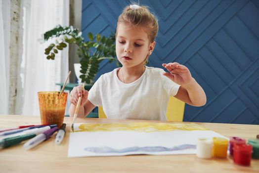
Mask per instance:
[[[113,62],[115,60],[117,66],[119,66],[119,62],[116,58],[115,34],[111,34],[109,37],[97,34],[94,38],[89,32],[87,36],[89,41],[85,41],[82,32],[74,29],[73,26],[62,27],[59,25],[44,33],[44,41],[56,38],[55,43],[51,43],[45,48],[46,58],[52,60],[55,59],[55,54],[68,44],[77,44],[81,64],[80,72],[82,73],[80,78],[82,83],[90,84],[98,72],[101,61],[108,59],[109,62]]]

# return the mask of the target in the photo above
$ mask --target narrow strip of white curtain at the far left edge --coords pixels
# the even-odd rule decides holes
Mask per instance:
[[[0,114],[8,114],[10,1],[0,0]]]

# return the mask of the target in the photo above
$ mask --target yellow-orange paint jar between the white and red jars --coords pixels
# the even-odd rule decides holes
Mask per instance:
[[[213,138],[213,156],[219,158],[227,157],[228,139],[222,137]]]

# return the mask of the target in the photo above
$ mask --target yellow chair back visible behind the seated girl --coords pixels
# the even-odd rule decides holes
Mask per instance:
[[[182,122],[184,106],[185,106],[185,103],[183,101],[178,100],[175,97],[170,97],[167,104],[167,120]],[[104,118],[104,119],[107,118],[101,106],[98,107],[98,111],[99,111],[99,118]]]

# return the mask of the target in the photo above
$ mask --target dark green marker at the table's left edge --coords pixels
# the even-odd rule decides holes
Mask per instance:
[[[5,138],[5,139],[2,139],[0,141],[0,149],[18,144],[18,143],[20,143],[24,140],[33,138],[35,136],[36,136],[36,134],[31,133],[31,134],[24,134],[24,135],[20,135],[20,136],[8,137],[8,138]]]

